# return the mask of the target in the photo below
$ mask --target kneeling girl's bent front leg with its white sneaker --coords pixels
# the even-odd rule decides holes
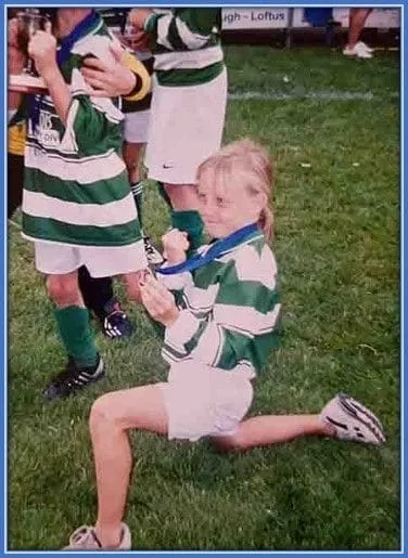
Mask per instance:
[[[94,528],[78,530],[71,549],[130,548],[128,528],[122,523],[131,471],[131,447],[127,430],[165,434],[167,414],[157,386],[142,386],[106,393],[90,414],[98,486],[98,519]]]

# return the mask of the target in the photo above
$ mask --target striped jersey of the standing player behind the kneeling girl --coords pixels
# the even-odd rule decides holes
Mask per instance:
[[[161,86],[199,86],[225,68],[219,8],[155,10],[144,28],[154,39],[154,70]]]

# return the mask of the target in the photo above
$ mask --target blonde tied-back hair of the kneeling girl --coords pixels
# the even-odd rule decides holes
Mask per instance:
[[[259,213],[258,225],[266,238],[270,239],[273,236],[273,213],[270,209],[273,169],[267,150],[252,140],[238,140],[200,165],[196,176],[199,183],[204,172],[208,171],[217,189],[230,190],[234,184],[241,184],[251,195],[265,194],[266,203]]]

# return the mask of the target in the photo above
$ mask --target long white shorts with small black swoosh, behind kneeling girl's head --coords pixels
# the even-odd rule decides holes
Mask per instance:
[[[221,145],[227,72],[208,83],[160,86],[153,76],[152,115],[144,164],[149,178],[194,184],[196,169]]]

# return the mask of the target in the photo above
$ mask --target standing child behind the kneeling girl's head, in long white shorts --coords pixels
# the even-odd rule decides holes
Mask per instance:
[[[171,225],[187,232],[195,249],[203,243],[196,169],[221,145],[227,104],[221,10],[138,8],[129,22],[145,31],[154,54],[148,177],[160,183]]]

